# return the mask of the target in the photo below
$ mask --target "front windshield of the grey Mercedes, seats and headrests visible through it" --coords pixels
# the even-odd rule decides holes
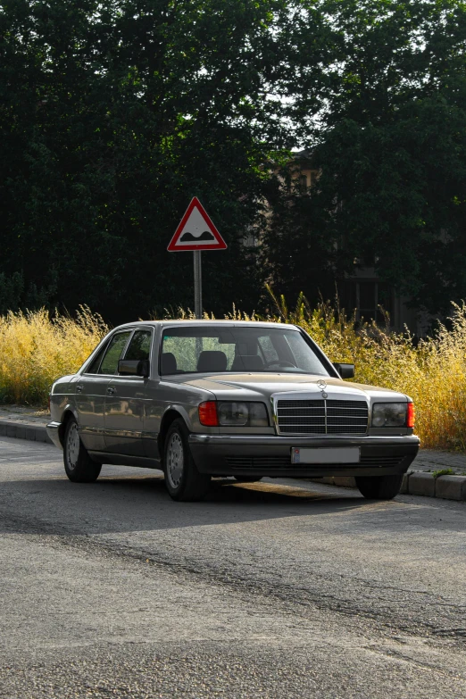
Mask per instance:
[[[162,336],[161,374],[285,372],[329,376],[299,330],[185,326]]]

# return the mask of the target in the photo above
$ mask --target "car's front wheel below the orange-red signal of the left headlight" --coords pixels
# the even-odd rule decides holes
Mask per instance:
[[[173,500],[202,500],[211,485],[211,477],[200,473],[187,443],[187,429],[183,420],[171,423],[165,439],[165,485]]]

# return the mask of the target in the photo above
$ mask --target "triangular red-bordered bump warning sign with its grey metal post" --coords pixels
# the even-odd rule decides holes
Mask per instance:
[[[201,250],[226,250],[227,244],[213,225],[209,214],[199,199],[194,196],[187,207],[185,215],[179,221],[179,227],[171,238],[167,250],[169,253],[193,251],[195,282],[195,315],[203,317],[203,277],[201,269]]]

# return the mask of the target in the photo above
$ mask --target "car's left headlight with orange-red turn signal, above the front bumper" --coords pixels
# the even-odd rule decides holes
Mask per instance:
[[[201,425],[208,427],[268,427],[269,416],[263,403],[223,403],[205,401],[198,408]]]

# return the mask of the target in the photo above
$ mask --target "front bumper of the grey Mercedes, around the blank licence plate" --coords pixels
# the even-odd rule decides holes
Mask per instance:
[[[201,473],[214,476],[388,476],[405,473],[418,453],[419,437],[280,437],[269,435],[189,435]],[[359,446],[359,463],[297,464],[293,447]]]

